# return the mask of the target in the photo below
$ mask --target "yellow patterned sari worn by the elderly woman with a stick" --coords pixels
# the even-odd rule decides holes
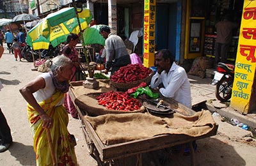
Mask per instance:
[[[52,118],[53,126],[50,129],[52,146],[56,156],[57,165],[77,165],[76,154],[70,133],[68,133],[68,114],[65,108],[60,105],[55,107],[61,101],[64,93],[58,91],[51,98],[39,105]],[[36,165],[53,165],[49,141],[47,139],[46,129],[42,126],[42,120],[38,112],[28,104],[28,118],[33,132],[33,147],[36,153]]]

